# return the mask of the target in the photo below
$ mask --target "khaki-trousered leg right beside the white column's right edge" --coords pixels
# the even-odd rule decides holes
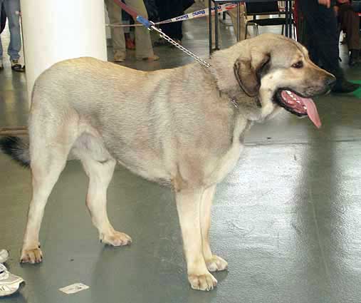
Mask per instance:
[[[115,4],[113,0],[105,0],[107,6],[108,16],[110,24],[122,23],[122,10],[120,6]],[[110,33],[112,35],[113,54],[115,62],[122,62],[125,60],[125,36],[122,27],[110,27]]]

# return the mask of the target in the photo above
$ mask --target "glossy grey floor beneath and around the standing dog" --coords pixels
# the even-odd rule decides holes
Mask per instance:
[[[222,26],[224,45],[234,43],[232,31]],[[184,46],[206,57],[204,21],[184,23]],[[172,48],[155,51],[159,62],[136,62],[130,53],[125,65],[151,70],[192,61]],[[345,69],[360,78],[359,68]],[[25,83],[9,66],[0,73],[0,126],[26,123]],[[44,262],[19,265],[30,173],[0,154],[0,248],[11,252],[11,272],[26,280],[19,294],[1,301],[360,302],[361,100],[329,95],[316,102],[320,130],[284,112],[248,133],[239,164],[217,188],[211,242],[229,271],[215,274],[219,286],[208,293],[188,285],[172,192],[121,167],[108,190],[108,210],[113,225],[132,236],[130,247],[98,242],[85,209],[88,180],[71,161],[46,207]],[[90,289],[58,291],[75,282]]]

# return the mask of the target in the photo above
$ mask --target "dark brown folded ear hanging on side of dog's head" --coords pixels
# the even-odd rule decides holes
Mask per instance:
[[[261,86],[261,76],[266,72],[271,55],[254,53],[251,58],[239,57],[234,63],[234,76],[239,86],[250,96],[257,96]]]

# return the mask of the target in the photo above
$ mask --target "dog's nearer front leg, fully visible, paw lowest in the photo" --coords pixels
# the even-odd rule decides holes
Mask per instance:
[[[188,280],[193,289],[211,290],[217,280],[209,273],[203,257],[200,206],[204,189],[176,192],[177,210],[182,229]]]

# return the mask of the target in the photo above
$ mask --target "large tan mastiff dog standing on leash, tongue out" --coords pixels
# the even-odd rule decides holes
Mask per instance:
[[[94,58],[62,61],[33,88],[28,140],[5,138],[2,149],[30,165],[33,197],[21,261],[43,260],[39,230],[44,207],[70,158],[83,163],[86,202],[100,240],[128,245],[108,220],[106,192],[116,163],[174,189],[192,288],[210,290],[210,272],[227,262],[209,246],[216,184],[239,160],[244,133],[281,108],[320,126],[310,99],[335,77],[315,66],[299,43],[263,34],[198,63],[135,71]]]

